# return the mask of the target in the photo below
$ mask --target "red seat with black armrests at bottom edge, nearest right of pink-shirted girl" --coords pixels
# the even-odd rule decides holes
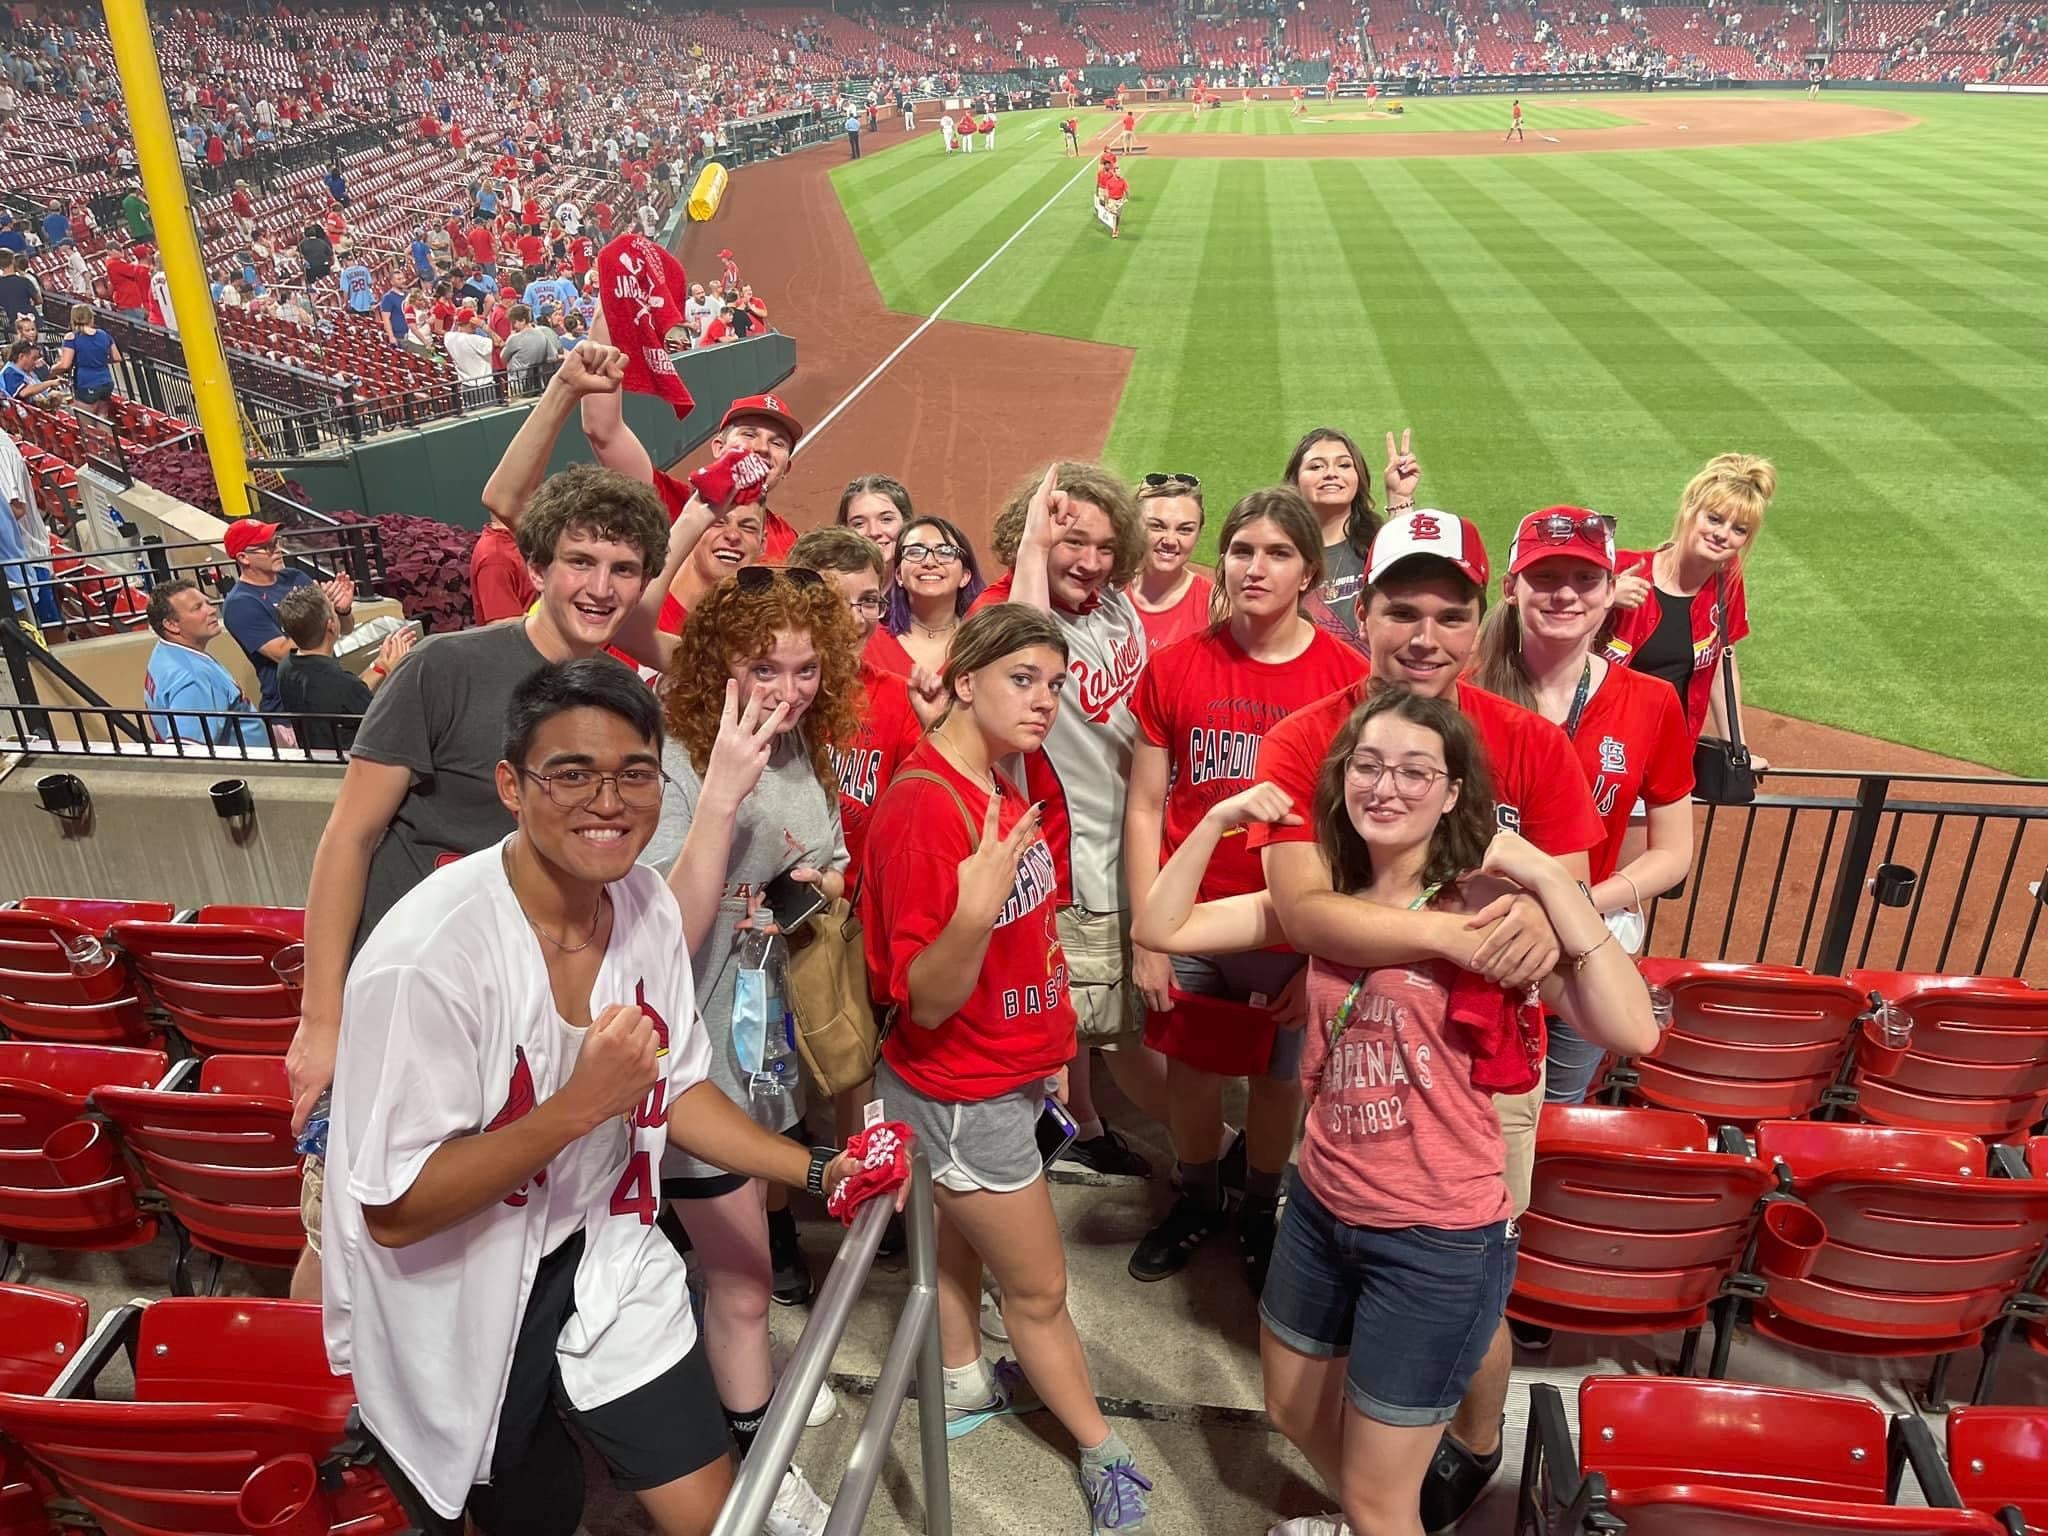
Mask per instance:
[[[1911,1466],[1925,1509],[1894,1503]],[[1556,1386],[1530,1389],[1522,1532],[2003,1536],[1960,1507],[1927,1427],[1866,1399],[1587,1376],[1573,1450]]]

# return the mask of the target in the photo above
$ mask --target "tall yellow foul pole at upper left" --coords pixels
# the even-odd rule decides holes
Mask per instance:
[[[178,340],[184,342],[184,367],[193,375],[193,399],[199,406],[207,459],[213,461],[213,483],[229,518],[248,516],[250,467],[242,451],[242,418],[236,412],[221,332],[213,322],[213,291],[199,252],[199,229],[184,199],[184,168],[178,164],[178,139],[156,63],[150,10],[143,0],[104,0],[104,6],[121,96],[135,129],[135,164],[141,168],[141,190],[150,199],[150,221],[164,254],[170,303],[178,311]]]

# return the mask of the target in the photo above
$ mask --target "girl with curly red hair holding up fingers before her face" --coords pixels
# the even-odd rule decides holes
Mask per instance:
[[[852,612],[817,571],[752,565],[690,610],[662,684],[672,786],[641,858],[682,905],[711,1081],[770,1130],[797,1124],[801,1090],[756,1104],[733,1038],[739,938],[770,922],[762,889],[776,877],[815,883],[827,899],[846,893],[831,750],[858,729],[858,655]],[[705,1339],[743,1458],[774,1393],[770,1290],[809,1300],[795,1219],[770,1214],[760,1180],[684,1153],[662,1174],[702,1264]]]

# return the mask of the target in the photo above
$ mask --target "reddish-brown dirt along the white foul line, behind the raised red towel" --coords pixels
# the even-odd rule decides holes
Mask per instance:
[[[864,137],[887,145],[903,131]],[[748,166],[719,217],[690,225],[682,246],[690,272],[715,272],[731,246],[776,328],[797,338],[784,395],[803,422],[846,399],[924,319],[883,305],[831,190],[844,154],[825,145]],[[848,479],[889,473],[985,549],[993,510],[1032,465],[1055,451],[1102,453],[1128,373],[1120,346],[940,319],[803,444],[776,510],[799,528],[829,522]]]

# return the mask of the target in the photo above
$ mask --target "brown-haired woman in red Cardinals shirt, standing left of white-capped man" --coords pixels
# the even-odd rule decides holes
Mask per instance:
[[[1323,580],[1323,539],[1292,485],[1251,492],[1223,520],[1219,578],[1229,621],[1153,655],[1133,705],[1139,745],[1124,809],[1124,870],[1143,922],[1159,864],[1219,803],[1253,784],[1266,733],[1294,709],[1327,698],[1366,670],[1364,657],[1300,614],[1300,596]],[[1260,856],[1225,844],[1202,879],[1202,899],[1266,889]],[[1300,1030],[1274,1028],[1272,1008],[1298,1010],[1303,956],[1167,956],[1133,948],[1130,975],[1145,1004],[1145,1042],[1167,1059],[1167,1128],[1180,1159],[1180,1198],[1130,1255],[1137,1280],[1178,1274],[1225,1225],[1219,1169],[1223,1085],[1249,1083],[1239,1247],[1253,1294],[1272,1260],[1280,1178],[1300,1118]],[[1223,1016],[1200,997],[1237,1004]],[[1262,1010],[1262,1012],[1253,1012]]]

